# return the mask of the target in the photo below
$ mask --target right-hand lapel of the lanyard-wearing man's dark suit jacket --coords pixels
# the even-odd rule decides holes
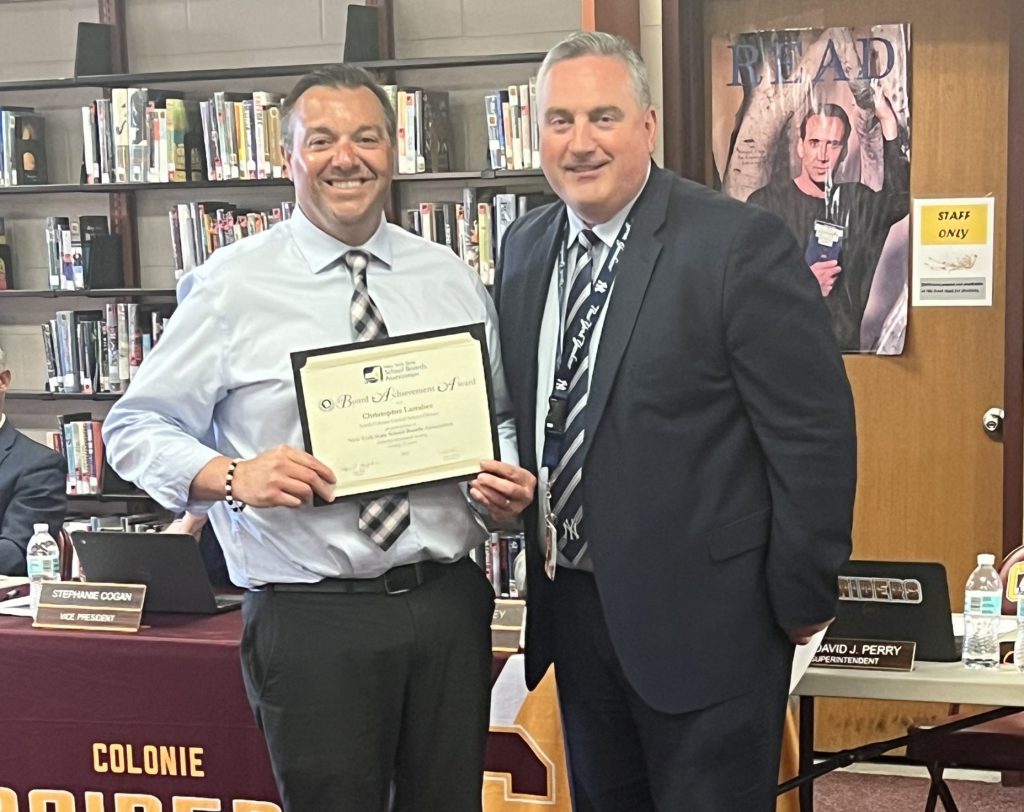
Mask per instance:
[[[652,167],[647,188],[636,203],[638,208],[632,219],[629,241],[620,259],[615,285],[608,299],[607,314],[597,346],[594,375],[587,395],[585,460],[594,431],[607,405],[623,354],[633,335],[654,264],[662,253],[662,242],[655,233],[665,222],[672,180],[671,173]]]

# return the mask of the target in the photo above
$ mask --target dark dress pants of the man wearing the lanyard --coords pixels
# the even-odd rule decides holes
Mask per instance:
[[[792,660],[742,664],[748,693],[660,713],[623,674],[593,575],[559,569],[554,594],[555,677],[575,812],[774,810]],[[700,667],[699,652],[693,664]]]

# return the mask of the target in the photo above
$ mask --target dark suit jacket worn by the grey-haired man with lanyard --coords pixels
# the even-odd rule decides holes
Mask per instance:
[[[564,206],[511,226],[496,300],[521,464],[536,471],[541,316]],[[584,533],[612,645],[651,707],[744,692],[783,630],[835,614],[853,401],[817,283],[774,215],[653,167],[616,269],[586,413]],[[527,681],[555,656],[538,507]],[[777,660],[781,661],[781,660]]]

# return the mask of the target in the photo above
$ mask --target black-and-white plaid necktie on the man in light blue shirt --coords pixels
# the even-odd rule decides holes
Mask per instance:
[[[367,265],[370,256],[365,251],[348,251],[342,261],[352,272],[352,331],[359,341],[387,338],[387,327],[380,310],[367,290]],[[409,494],[390,494],[359,503],[359,530],[387,550],[409,527]]]

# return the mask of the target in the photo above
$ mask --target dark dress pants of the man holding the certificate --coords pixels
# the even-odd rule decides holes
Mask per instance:
[[[464,559],[400,595],[249,592],[246,693],[286,812],[478,812],[494,590]]]

